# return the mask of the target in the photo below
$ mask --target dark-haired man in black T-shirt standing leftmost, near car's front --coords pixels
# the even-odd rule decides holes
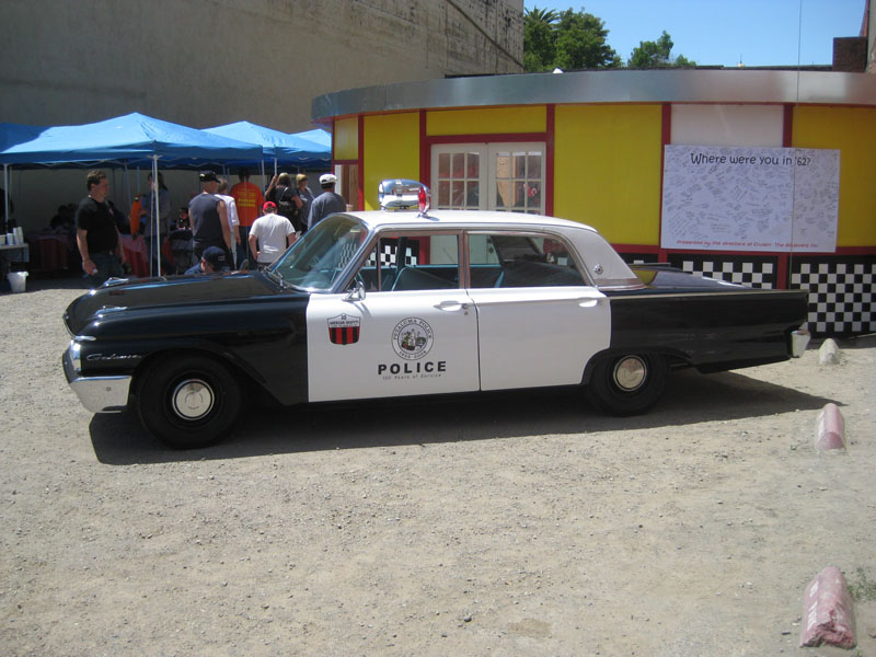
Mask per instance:
[[[82,269],[94,287],[111,276],[122,278],[125,252],[116,220],[106,204],[110,181],[103,171],[90,171],[85,178],[89,195],[76,211],[76,242],[82,256]]]

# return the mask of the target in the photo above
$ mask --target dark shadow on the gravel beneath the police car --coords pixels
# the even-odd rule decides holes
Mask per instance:
[[[99,414],[91,439],[99,461],[112,465],[237,459],[276,453],[489,440],[548,434],[627,431],[816,410],[828,402],[735,372],[670,377],[664,399],[647,414],[606,416],[580,391],[530,390],[430,397],[426,401],[258,408],[244,413],[219,445],[171,450],[149,435],[135,413]]]

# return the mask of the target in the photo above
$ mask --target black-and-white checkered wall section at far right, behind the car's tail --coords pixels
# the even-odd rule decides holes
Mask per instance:
[[[789,287],[808,290],[808,324],[815,335],[876,331],[876,258],[796,260]]]

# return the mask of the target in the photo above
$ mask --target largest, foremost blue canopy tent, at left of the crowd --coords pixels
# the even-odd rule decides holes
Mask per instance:
[[[42,129],[27,141],[0,151],[4,171],[16,165],[124,165],[151,164],[158,180],[158,161],[166,169],[204,169],[221,162],[258,160],[262,149],[253,143],[211,135],[143,114],[127,114],[79,126]],[[158,223],[158,194],[153,195]],[[158,226],[155,226],[158,233]],[[151,258],[150,258],[151,267]]]

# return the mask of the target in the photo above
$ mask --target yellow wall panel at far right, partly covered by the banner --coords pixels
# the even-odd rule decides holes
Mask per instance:
[[[876,110],[798,106],[793,145],[840,151],[837,246],[876,245]]]

